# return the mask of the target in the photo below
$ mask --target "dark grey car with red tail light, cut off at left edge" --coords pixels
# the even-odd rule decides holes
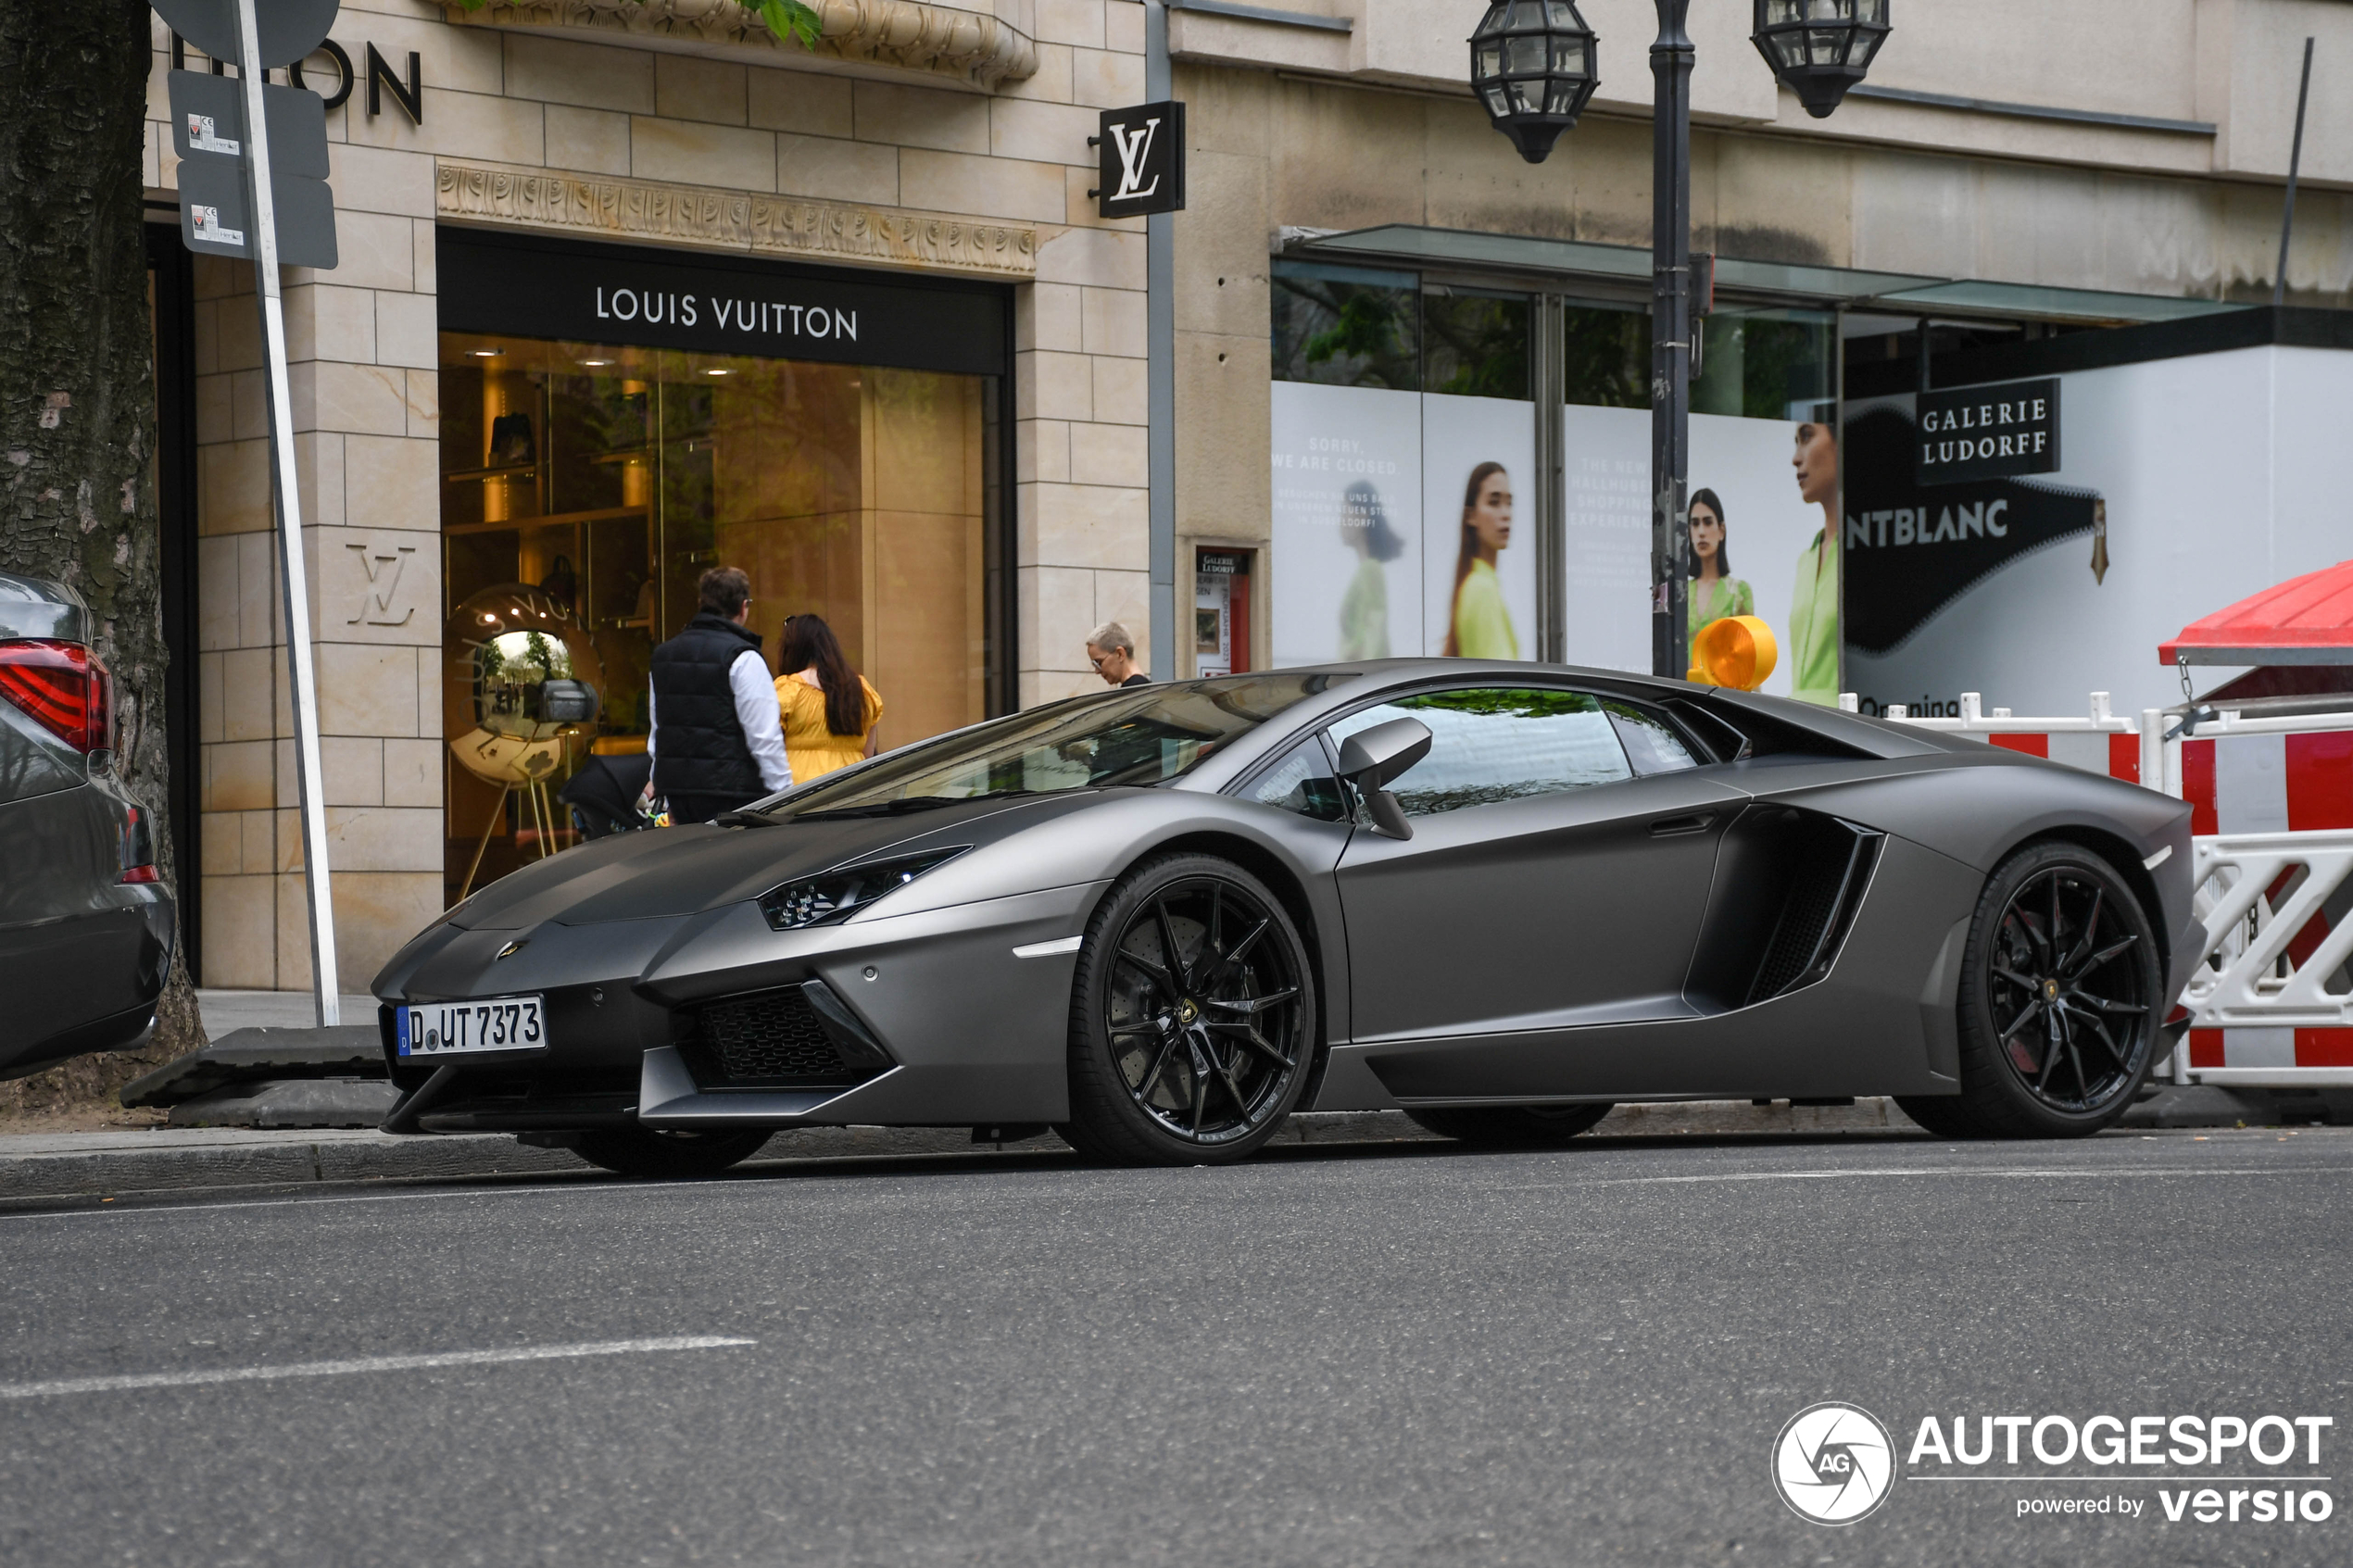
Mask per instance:
[[[172,893],[113,759],[89,609],[0,571],[0,1077],[120,1051],[155,1023]]]

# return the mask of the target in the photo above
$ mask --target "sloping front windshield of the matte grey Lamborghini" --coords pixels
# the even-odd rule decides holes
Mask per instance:
[[[875,757],[753,806],[765,816],[889,816],[965,799],[1155,785],[1348,675],[1228,675],[1120,686]]]

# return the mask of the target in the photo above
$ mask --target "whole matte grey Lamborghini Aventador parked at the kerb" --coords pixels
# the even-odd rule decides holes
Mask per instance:
[[[1617,1100],[2132,1103],[2188,806],[1777,698],[1388,661],[1127,686],[600,839],[376,976],[402,1133],[628,1173],[812,1124],[1226,1161],[1292,1110],[1548,1143]]]

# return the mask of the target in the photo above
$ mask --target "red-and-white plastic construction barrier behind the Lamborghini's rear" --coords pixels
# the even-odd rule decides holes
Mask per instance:
[[[1840,708],[1857,712],[1857,698]],[[2177,1084],[2353,1086],[2353,712],[2221,710],[2188,736],[2165,710],[2139,719],[2094,691],[2085,717],[1984,712],[1889,719],[2049,757],[2191,804],[2205,964],[2181,1004]]]

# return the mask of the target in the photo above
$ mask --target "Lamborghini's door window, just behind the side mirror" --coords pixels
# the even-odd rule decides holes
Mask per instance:
[[[1609,715],[1584,691],[1424,691],[1351,712],[1332,724],[1332,741],[1337,745],[1388,719],[1421,719],[1431,726],[1431,755],[1388,785],[1407,816],[1633,778]]]

